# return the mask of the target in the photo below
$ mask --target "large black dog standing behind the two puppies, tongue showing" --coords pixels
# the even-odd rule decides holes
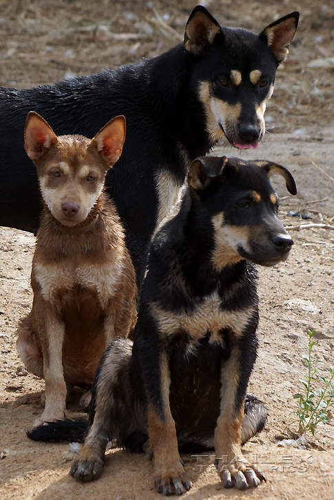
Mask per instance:
[[[293,12],[257,35],[221,28],[198,6],[187,21],[185,43],[159,57],[54,86],[2,88],[0,226],[31,232],[39,226],[36,170],[21,139],[30,110],[52,123],[57,135],[85,137],[124,114],[127,139],[106,186],[140,282],[154,229],[191,161],[220,138],[236,148],[255,148],[262,139],[266,101],[297,25]]]

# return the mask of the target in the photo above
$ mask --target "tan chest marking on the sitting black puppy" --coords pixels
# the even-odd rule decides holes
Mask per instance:
[[[228,311],[221,309],[220,304],[221,299],[215,292],[191,313],[185,311],[168,312],[161,310],[158,303],[154,303],[152,304],[152,314],[158,321],[160,332],[167,336],[184,330],[194,339],[200,339],[209,331],[211,332],[211,342],[220,342],[219,331],[222,328],[231,328],[236,337],[239,337],[247,326],[254,309]]]

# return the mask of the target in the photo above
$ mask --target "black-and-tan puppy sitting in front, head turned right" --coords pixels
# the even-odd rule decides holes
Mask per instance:
[[[89,432],[70,472],[76,479],[100,476],[112,438],[136,451],[149,439],[163,494],[191,487],[178,446],[214,447],[226,488],[264,479],[240,444],[263,428],[266,414],[260,401],[245,399],[257,350],[253,263],[272,266],[293,244],[276,217],[273,173],[296,193],[288,170],[268,161],[192,164],[180,212],[150,248],[133,349],[127,339],[112,342],[96,371]],[[29,435],[61,439],[82,429],[60,421]]]

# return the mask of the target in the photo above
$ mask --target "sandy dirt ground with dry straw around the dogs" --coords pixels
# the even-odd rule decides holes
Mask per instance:
[[[318,340],[320,372],[334,366],[334,8],[311,0],[217,0],[205,5],[220,23],[255,31],[292,10],[302,14],[289,59],[278,71],[263,143],[256,152],[217,149],[218,154],[278,161],[295,176],[298,195],[288,195],[282,179],[274,178],[280,219],[295,245],[288,261],[260,268],[258,286],[260,346],[249,392],[266,403],[269,419],[260,436],[244,446],[244,454],[258,462],[267,483],[246,492],[224,490],[210,454],[185,455],[194,487],[184,497],[330,500],[334,421],[320,424],[315,436],[308,436],[306,449],[282,447],[280,440],[297,429],[293,394],[302,391],[299,372],[306,372],[299,339],[306,340],[309,329]],[[182,40],[194,6],[189,0],[0,1],[0,84],[23,88],[52,83],[154,57]],[[291,217],[291,210],[311,219]],[[295,230],[301,224],[326,227]],[[145,456],[110,449],[101,479],[79,484],[68,475],[73,457],[68,444],[39,444],[25,437],[41,413],[43,390],[43,381],[24,370],[15,347],[17,322],[32,304],[33,250],[32,234],[0,228],[0,499],[160,498]],[[70,414],[79,411],[74,401]]]

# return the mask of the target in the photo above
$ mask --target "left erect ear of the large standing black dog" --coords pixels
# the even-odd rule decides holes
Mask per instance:
[[[205,7],[197,6],[191,12],[185,27],[185,48],[195,56],[202,55],[221,32],[219,23]]]

